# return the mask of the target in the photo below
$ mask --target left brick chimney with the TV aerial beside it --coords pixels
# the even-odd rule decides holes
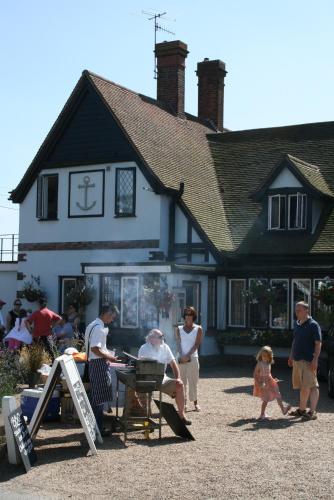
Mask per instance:
[[[157,43],[157,98],[168,104],[173,112],[184,115],[184,71],[187,45],[180,40]]]

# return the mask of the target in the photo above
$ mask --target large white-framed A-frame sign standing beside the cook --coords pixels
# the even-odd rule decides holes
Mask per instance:
[[[97,451],[94,441],[97,439],[99,443],[102,443],[103,440],[99,428],[96,424],[95,416],[90,405],[87,393],[85,391],[84,385],[72,356],[67,356],[64,354],[63,356],[59,356],[54,360],[51,372],[48,376],[47,382],[44,386],[44,390],[41,394],[29,425],[30,435],[32,438],[34,438],[38,432],[44,413],[47,409],[48,403],[52,397],[57,380],[61,373],[63,373],[63,376],[66,379],[75,409],[77,410],[81,425],[85,431],[89,447],[92,451],[92,454],[95,455]]]

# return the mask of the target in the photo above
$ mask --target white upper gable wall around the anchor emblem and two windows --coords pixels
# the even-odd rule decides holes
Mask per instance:
[[[105,169],[107,166],[110,170],[105,170],[104,217],[68,218],[69,172]],[[138,167],[136,167],[136,217],[115,217],[116,167],[136,167],[136,164],[123,162],[43,170],[43,174],[59,175],[59,220],[39,221],[36,218],[37,181],[35,181],[20,205],[20,243],[160,239],[161,196],[152,192]],[[164,201],[164,212],[165,204]],[[168,235],[168,224],[163,229]]]

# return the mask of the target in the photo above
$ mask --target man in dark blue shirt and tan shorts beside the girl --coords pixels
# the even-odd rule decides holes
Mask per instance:
[[[315,420],[319,400],[317,369],[321,351],[321,329],[309,315],[306,302],[298,302],[295,311],[297,321],[288,364],[293,367],[292,385],[294,389],[299,389],[300,401],[299,408],[290,415],[302,417],[304,420]],[[310,411],[307,412],[308,400]]]

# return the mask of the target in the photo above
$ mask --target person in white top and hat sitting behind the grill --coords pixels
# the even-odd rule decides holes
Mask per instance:
[[[170,365],[173,370],[175,379],[164,376],[161,392],[168,394],[171,398],[175,398],[176,405],[178,408],[178,413],[186,425],[190,425],[191,422],[188,420],[184,413],[184,390],[183,383],[180,378],[180,370],[175,361],[172,351],[169,346],[164,342],[164,335],[160,330],[154,329],[146,337],[146,344],[142,345],[138,352],[139,358],[154,359],[158,363],[163,363],[165,369],[167,364]]]

